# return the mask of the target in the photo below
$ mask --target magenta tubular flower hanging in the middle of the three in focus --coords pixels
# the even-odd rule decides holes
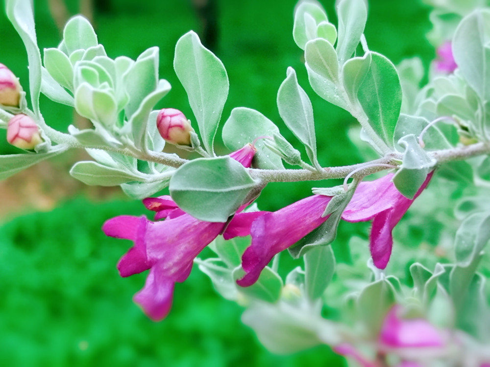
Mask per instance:
[[[252,243],[242,256],[245,275],[237,280],[242,287],[252,285],[272,257],[316,229],[328,219],[321,217],[331,197],[314,195],[266,213],[253,221],[250,234]]]

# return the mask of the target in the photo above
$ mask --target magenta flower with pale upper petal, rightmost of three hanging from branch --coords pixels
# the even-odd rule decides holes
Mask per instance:
[[[407,199],[400,194],[391,182],[392,174],[378,180],[363,182],[359,184],[352,200],[343,211],[342,219],[347,222],[372,219],[369,250],[377,268],[386,268],[392,253],[392,230],[427,186],[432,173],[427,175],[413,199]]]

